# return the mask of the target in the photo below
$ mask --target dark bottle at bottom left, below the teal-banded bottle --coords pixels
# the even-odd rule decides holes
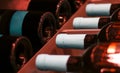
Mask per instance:
[[[24,36],[0,35],[0,73],[17,73],[33,56],[32,50]]]

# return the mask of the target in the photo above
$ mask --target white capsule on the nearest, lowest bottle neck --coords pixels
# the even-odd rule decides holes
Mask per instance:
[[[36,67],[40,70],[67,71],[70,55],[40,54],[36,57]]]

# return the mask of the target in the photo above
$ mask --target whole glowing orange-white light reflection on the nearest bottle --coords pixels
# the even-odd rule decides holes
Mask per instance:
[[[120,49],[120,46],[118,46],[116,43],[111,43],[109,45],[107,49],[107,61],[120,67],[120,50],[117,49]]]

